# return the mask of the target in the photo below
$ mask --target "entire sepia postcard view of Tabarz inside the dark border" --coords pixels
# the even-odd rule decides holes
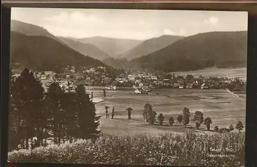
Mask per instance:
[[[247,14],[12,8],[8,161],[244,166]]]

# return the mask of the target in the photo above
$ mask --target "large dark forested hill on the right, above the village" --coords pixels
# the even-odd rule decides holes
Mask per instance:
[[[131,61],[131,65],[166,72],[246,67],[247,31],[208,32],[175,43]]]

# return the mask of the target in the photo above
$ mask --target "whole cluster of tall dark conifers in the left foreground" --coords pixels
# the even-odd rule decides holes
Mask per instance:
[[[25,68],[14,77],[10,70],[8,151],[96,138],[99,119],[82,84],[51,82],[45,92],[33,72]]]

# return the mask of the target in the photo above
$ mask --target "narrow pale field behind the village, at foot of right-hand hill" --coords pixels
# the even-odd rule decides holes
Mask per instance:
[[[209,77],[209,76],[228,77],[229,79],[238,77],[246,81],[246,68],[232,68],[232,69],[208,68],[204,70],[174,72],[174,73],[176,75],[182,75],[182,76],[187,76],[187,74],[191,74],[194,77],[198,77],[199,75],[203,75],[203,77]]]

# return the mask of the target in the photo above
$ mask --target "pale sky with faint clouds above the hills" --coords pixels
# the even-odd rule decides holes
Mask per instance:
[[[247,31],[247,12],[12,8],[11,19],[41,26],[56,36],[105,36],[145,40],[212,31]]]

